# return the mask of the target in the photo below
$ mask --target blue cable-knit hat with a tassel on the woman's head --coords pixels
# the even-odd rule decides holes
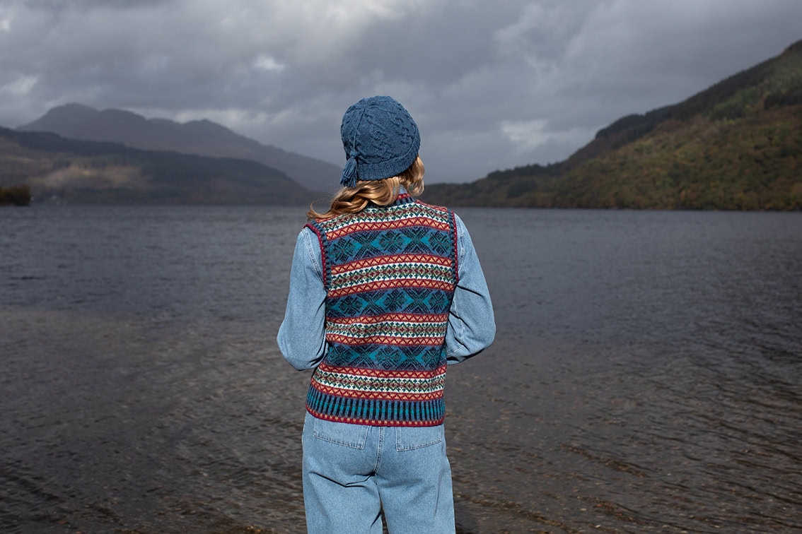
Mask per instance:
[[[350,106],[340,126],[346,168],[340,183],[382,180],[406,171],[418,156],[418,125],[399,102],[389,96],[363,98]]]

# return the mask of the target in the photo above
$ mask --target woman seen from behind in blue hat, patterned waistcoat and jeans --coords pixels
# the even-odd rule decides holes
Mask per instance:
[[[454,532],[444,437],[449,363],[496,332],[460,218],[423,191],[418,126],[387,96],[342,118],[346,167],[325,213],[298,235],[284,357],[314,369],[303,492],[309,532]]]

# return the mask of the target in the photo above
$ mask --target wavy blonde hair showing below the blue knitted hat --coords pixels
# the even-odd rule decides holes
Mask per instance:
[[[358,213],[369,204],[387,206],[398,198],[400,187],[412,196],[423,193],[423,161],[416,157],[406,171],[398,176],[383,180],[357,180],[354,187],[342,187],[331,199],[329,211],[314,211],[314,203],[310,205],[306,216],[309,219],[331,219],[346,213]]]

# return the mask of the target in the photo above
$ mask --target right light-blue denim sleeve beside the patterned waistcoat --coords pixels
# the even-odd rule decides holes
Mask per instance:
[[[479,354],[496,337],[496,319],[479,257],[468,228],[459,216],[455,215],[455,219],[460,281],[448,312],[446,357],[450,364]]]

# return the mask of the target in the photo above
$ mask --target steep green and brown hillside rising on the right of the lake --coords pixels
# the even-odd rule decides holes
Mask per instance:
[[[427,186],[455,206],[802,210],[802,41],[599,130],[563,162]]]

